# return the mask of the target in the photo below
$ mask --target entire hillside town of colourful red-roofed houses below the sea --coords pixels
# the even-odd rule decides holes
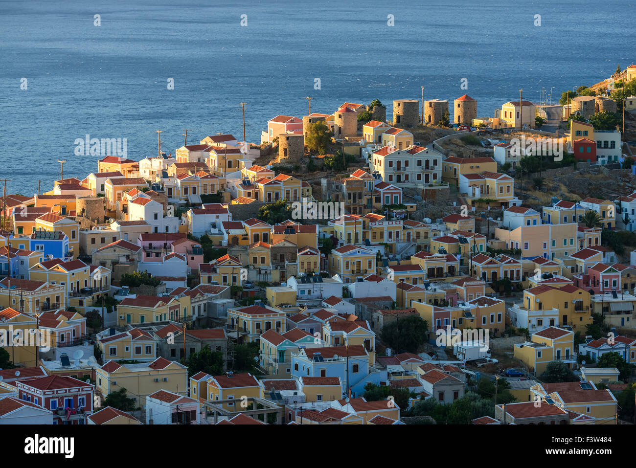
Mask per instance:
[[[0,424],[634,423],[636,65],[394,98],[5,185]]]

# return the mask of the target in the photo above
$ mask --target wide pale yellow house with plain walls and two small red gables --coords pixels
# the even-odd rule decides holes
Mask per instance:
[[[188,368],[176,361],[158,357],[152,362],[119,364],[110,360],[95,369],[97,391],[104,397],[126,389],[135,405],[146,406],[146,397],[158,390],[188,395]]]

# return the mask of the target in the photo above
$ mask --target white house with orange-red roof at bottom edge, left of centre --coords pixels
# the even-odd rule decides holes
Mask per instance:
[[[200,424],[201,404],[198,400],[167,390],[146,397],[146,424]]]

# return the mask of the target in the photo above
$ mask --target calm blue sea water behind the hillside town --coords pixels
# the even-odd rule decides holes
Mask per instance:
[[[0,1],[0,176],[8,193],[85,177],[74,141],[126,138],[128,157],[173,153],[205,135],[259,142],[277,114],[342,102],[452,100],[479,116],[539,100],[636,62],[633,0]],[[93,25],[94,15],[101,25]],[[247,25],[241,26],[241,15]],[[394,25],[387,25],[387,16]],[[536,26],[535,15],[541,15]],[[27,90],[20,79],[27,78]],[[174,78],[174,90],[167,79]],[[321,89],[315,90],[315,78]],[[460,88],[462,78],[468,89]]]

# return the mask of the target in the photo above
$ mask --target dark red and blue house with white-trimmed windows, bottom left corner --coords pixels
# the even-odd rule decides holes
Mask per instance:
[[[51,375],[15,382],[18,398],[50,410],[53,424],[86,424],[93,412],[95,386],[73,377]]]

